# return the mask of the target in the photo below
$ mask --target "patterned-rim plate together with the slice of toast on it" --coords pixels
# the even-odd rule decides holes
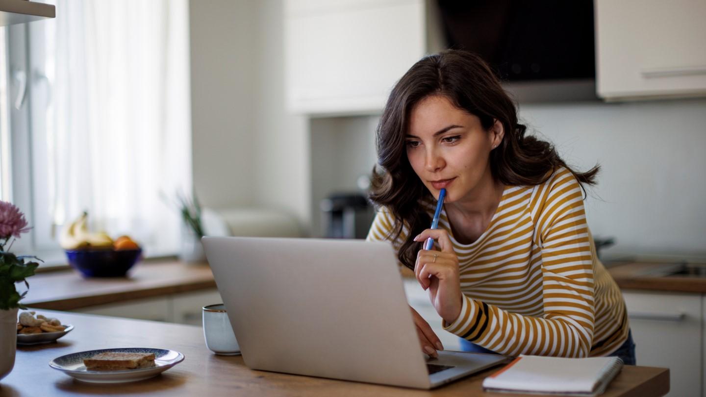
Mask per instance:
[[[155,377],[184,361],[180,352],[154,348],[88,350],[56,357],[49,367],[89,383],[124,383]]]

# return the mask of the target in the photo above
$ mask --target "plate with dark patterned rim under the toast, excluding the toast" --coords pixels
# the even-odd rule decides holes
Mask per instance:
[[[120,371],[88,371],[85,365],[83,365],[83,359],[93,357],[102,352],[155,353],[155,367],[123,369]],[[59,371],[80,381],[90,383],[123,383],[155,377],[157,374],[160,374],[160,372],[164,372],[182,361],[184,361],[184,355],[174,350],[118,348],[88,350],[85,352],[62,355],[50,361],[49,367],[59,369]]]

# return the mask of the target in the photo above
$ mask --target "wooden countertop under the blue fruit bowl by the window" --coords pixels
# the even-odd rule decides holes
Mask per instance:
[[[128,277],[83,278],[71,270],[40,273],[28,278],[28,282],[30,292],[22,303],[54,310],[80,309],[216,286],[208,264],[179,261],[138,263]]]

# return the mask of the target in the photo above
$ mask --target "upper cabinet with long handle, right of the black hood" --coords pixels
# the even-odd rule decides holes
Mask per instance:
[[[706,1],[594,4],[600,97],[706,95]]]

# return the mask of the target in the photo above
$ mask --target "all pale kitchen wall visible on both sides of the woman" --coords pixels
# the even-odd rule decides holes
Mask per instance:
[[[191,2],[194,184],[211,206],[265,206],[318,234],[318,200],[374,162],[375,115],[312,119],[284,105],[282,2]],[[530,103],[520,117],[586,170],[608,257],[706,259],[706,100]],[[337,182],[336,182],[337,181]]]

